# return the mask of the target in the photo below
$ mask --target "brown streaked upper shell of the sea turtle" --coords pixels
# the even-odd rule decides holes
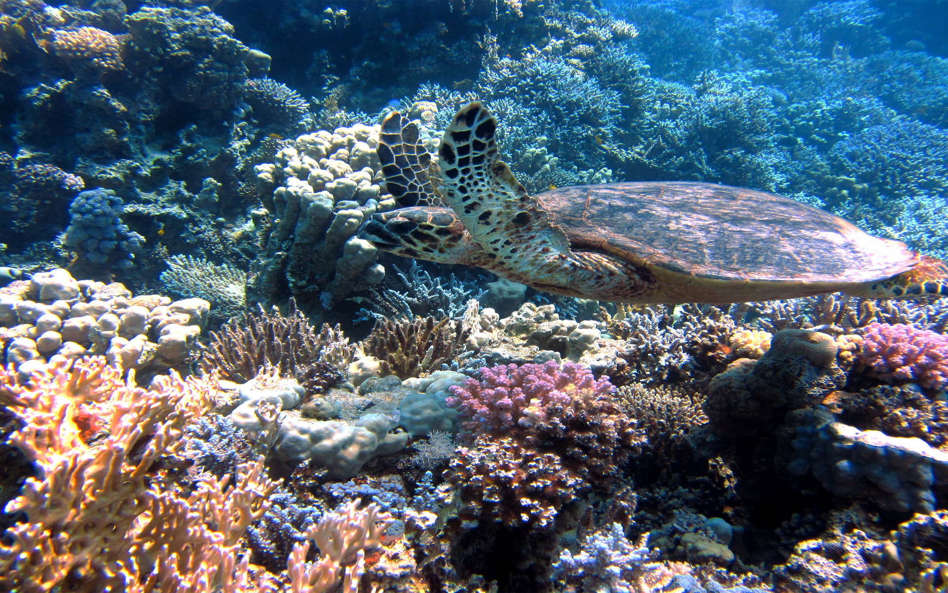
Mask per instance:
[[[716,281],[849,284],[913,268],[918,253],[788,197],[713,183],[572,186],[537,195],[574,250]]]

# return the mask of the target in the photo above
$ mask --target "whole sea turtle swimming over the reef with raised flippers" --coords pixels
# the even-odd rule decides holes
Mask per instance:
[[[614,303],[948,295],[941,261],[780,195],[682,181],[528,195],[499,158],[496,130],[480,102],[462,107],[436,175],[417,125],[389,115],[377,152],[399,209],[373,214],[359,236],[398,255]]]

